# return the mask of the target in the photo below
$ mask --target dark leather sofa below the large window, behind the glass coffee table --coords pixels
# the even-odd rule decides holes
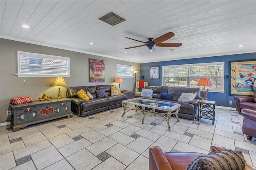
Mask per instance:
[[[167,86],[146,86],[145,89],[153,90],[153,98],[143,97],[145,99],[158,100],[158,101],[166,101],[170,103],[179,103],[180,111],[178,112],[178,117],[194,120],[198,101],[200,98],[200,88],[186,88],[186,87],[167,87]],[[160,99],[160,93],[172,93],[172,100],[162,100]],[[194,93],[196,97],[194,100],[189,101],[188,103],[178,101],[181,93]],[[141,95],[137,95],[136,97],[142,98]],[[149,108],[146,108],[149,110]],[[156,112],[163,113],[164,111],[156,110]]]

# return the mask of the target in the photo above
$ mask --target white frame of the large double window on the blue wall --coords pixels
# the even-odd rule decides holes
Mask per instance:
[[[211,65],[222,65],[222,76],[220,77],[221,78],[221,82],[220,82],[220,84],[221,84],[221,89],[211,89],[211,88],[209,88],[209,90],[208,91],[210,91],[210,92],[221,92],[221,93],[224,93],[224,84],[225,84],[225,78],[224,78],[224,71],[225,71],[225,62],[224,61],[222,61],[222,62],[212,62],[212,63],[194,63],[194,64],[182,64],[182,65],[164,65],[164,66],[162,66],[162,75],[161,75],[161,77],[162,77],[162,86],[164,86],[164,68],[166,68],[166,67],[188,67],[188,74],[187,74],[187,87],[189,87],[190,86],[190,84],[188,84],[188,83],[190,83],[190,78],[191,77],[195,77],[195,76],[190,76],[190,67],[195,67],[195,66],[211,66]],[[200,76],[196,76],[196,77],[200,77]],[[202,76],[202,77],[204,77],[204,76]],[[209,76],[210,77],[210,76]],[[177,86],[178,87],[178,86]],[[201,86],[198,86],[198,88],[201,88],[202,89],[202,87]],[[206,87],[206,88],[208,88],[208,87]]]

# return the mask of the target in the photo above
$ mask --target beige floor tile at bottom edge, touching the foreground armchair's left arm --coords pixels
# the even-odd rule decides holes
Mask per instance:
[[[139,156],[125,170],[148,170],[149,159],[144,156]]]

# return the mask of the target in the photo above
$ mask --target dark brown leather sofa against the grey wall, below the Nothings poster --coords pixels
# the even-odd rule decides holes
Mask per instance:
[[[96,86],[76,86],[76,87],[68,87],[66,92],[66,97],[71,98],[71,111],[80,116],[84,117],[87,115],[91,115],[94,113],[98,113],[101,111],[105,111],[108,109],[113,109],[116,107],[122,106],[122,101],[127,99],[127,96],[122,93],[122,95],[111,96],[111,86],[115,87],[115,85],[96,85]],[[83,89],[85,92],[89,92],[92,94],[93,99],[89,101],[85,101],[80,99],[76,94],[79,90]],[[95,93],[96,90],[104,89],[107,97],[97,98]]]

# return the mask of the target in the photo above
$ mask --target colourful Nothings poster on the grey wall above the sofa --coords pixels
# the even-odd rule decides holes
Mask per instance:
[[[105,82],[105,61],[90,59],[90,82]]]

